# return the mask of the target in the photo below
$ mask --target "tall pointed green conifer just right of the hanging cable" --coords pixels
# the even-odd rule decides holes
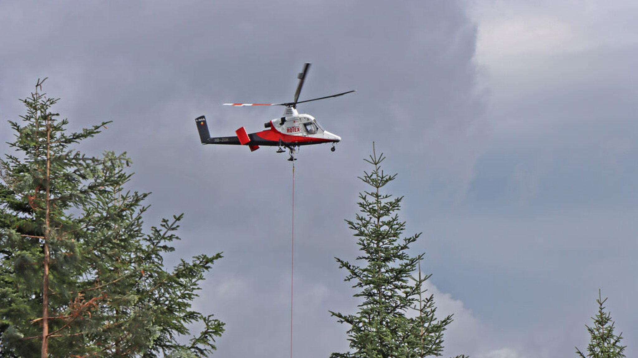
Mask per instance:
[[[353,352],[333,353],[331,357],[427,357],[441,355],[443,332],[452,322],[452,315],[436,318],[433,295],[425,296],[426,280],[420,262],[424,254],[410,256],[408,249],[419,234],[401,238],[405,222],[396,211],[403,197],[382,192],[396,178],[381,169],[385,157],[373,154],[366,159],[374,169],[360,179],[372,189],[359,194],[360,214],[346,220],[358,238],[362,252],[352,264],[336,258],[339,268],[345,268],[345,280],[358,289],[354,296],[362,299],[355,315],[330,313],[339,323],[350,326],[348,337]],[[419,271],[415,277],[415,271]],[[414,312],[411,314],[411,312]]]

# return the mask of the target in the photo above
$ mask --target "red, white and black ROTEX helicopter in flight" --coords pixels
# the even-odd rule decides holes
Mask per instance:
[[[225,106],[285,106],[284,115],[281,118],[275,118],[270,122],[266,122],[263,126],[265,131],[255,132],[248,134],[244,127],[240,127],[235,131],[237,136],[225,136],[225,137],[211,137],[206,123],[206,117],[200,116],[195,118],[197,124],[197,130],[200,135],[202,144],[224,144],[224,145],[247,145],[251,152],[257,150],[260,146],[279,147],[277,153],[283,153],[285,150],[282,147],[288,148],[290,151],[290,158],[288,161],[297,160],[294,157],[295,148],[299,149],[302,145],[313,145],[321,143],[332,143],[330,150],[334,152],[334,145],[341,141],[341,137],[336,134],[332,134],[329,131],[325,131],[321,125],[318,124],[315,117],[297,111],[297,104],[306,103],[311,101],[318,101],[320,99],[332,98],[343,96],[344,94],[355,92],[355,90],[349,90],[347,92],[341,92],[333,94],[331,96],[318,97],[313,99],[306,99],[299,101],[299,94],[301,88],[304,85],[304,80],[308,74],[310,64],[304,64],[302,72],[299,73],[297,78],[299,84],[295,91],[295,97],[292,102],[286,103],[224,103]]]

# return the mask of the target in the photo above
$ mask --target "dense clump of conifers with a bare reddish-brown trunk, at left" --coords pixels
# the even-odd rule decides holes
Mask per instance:
[[[66,131],[36,91],[0,159],[0,355],[160,357],[214,350],[223,323],[191,310],[198,283],[221,254],[198,255],[172,271],[182,215],[143,231],[148,194],[128,192],[126,154],[88,157],[72,147],[108,122]],[[190,343],[188,325],[204,329]]]

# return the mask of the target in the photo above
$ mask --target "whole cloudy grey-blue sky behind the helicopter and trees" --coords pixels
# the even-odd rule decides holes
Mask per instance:
[[[638,3],[594,0],[0,0],[0,150],[38,78],[78,148],[127,152],[147,226],[184,213],[167,257],[223,252],[194,306],[226,322],[218,357],[348,349],[345,219],[377,152],[405,236],[422,233],[445,355],[575,356],[605,306],[638,354]],[[288,155],[200,145],[298,106],[343,140]]]

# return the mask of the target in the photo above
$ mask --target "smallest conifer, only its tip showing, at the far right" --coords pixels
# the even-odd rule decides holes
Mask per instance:
[[[595,317],[591,317],[594,321],[594,326],[590,327],[585,325],[587,331],[590,333],[591,340],[587,346],[587,355],[582,354],[581,350],[576,347],[576,354],[581,358],[624,358],[625,348],[627,346],[620,345],[620,341],[623,339],[623,334],[618,336],[614,334],[614,322],[611,320],[611,313],[605,312],[605,301],[607,298],[602,299],[600,296],[600,290],[598,290],[598,314]]]

